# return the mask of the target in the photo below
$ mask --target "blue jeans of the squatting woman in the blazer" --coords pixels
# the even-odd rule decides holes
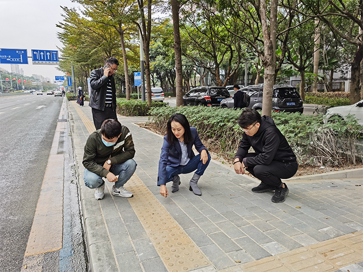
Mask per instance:
[[[200,154],[191,159],[187,165],[179,165],[176,167],[166,166],[166,182],[172,181],[174,176],[179,174],[188,174],[197,169],[196,174],[202,176],[204,171],[207,169],[211,157],[208,153],[208,161],[206,164],[203,164],[203,161],[200,160]]]

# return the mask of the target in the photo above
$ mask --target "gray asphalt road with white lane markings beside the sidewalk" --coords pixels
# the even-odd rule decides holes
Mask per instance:
[[[20,271],[62,101],[0,99],[0,271]]]

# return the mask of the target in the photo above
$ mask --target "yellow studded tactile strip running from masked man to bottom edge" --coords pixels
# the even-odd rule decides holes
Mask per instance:
[[[131,207],[170,272],[185,272],[210,265],[206,256],[175,222],[137,175],[128,181]]]

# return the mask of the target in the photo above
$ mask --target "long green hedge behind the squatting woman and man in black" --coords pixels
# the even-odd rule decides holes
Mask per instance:
[[[243,134],[237,124],[241,110],[183,106],[152,108],[148,122],[154,122],[157,130],[164,134],[166,122],[174,113],[186,115],[209,150],[233,159]],[[284,112],[272,113],[272,118],[291,145],[299,164],[342,165],[345,156],[355,163],[358,153],[355,146],[363,126],[354,118],[326,123],[323,115]]]

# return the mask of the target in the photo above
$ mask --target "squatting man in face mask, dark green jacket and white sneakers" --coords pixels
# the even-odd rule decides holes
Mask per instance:
[[[118,120],[105,120],[101,129],[89,135],[84,147],[83,165],[86,169],[83,179],[88,188],[96,189],[97,200],[104,197],[103,177],[115,183],[111,190],[113,195],[133,196],[124,185],[136,170],[134,156],[135,148],[131,132]]]

